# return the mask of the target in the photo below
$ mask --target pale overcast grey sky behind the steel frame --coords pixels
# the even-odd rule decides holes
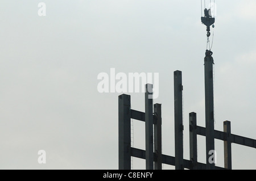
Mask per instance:
[[[38,16],[38,3],[46,16]],[[256,1],[218,1],[214,30],[215,129],[256,139]],[[97,75],[159,73],[163,153],[174,156],[173,72],[183,72],[184,158],[188,113],[204,120],[205,26],[200,1],[2,0],[0,169],[118,169],[118,95],[97,91]],[[143,93],[131,108],[144,111]],[[144,149],[143,123],[134,146]],[[205,163],[205,138],[199,136]],[[217,166],[224,166],[216,140]],[[39,164],[38,150],[46,150]],[[232,145],[233,169],[256,169],[256,150]],[[144,161],[134,158],[134,169]],[[164,165],[164,169],[174,169]]]

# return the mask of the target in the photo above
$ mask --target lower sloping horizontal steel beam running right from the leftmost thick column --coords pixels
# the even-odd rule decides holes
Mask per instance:
[[[131,148],[131,156],[136,157],[136,158],[146,159],[146,151],[138,149],[138,148]],[[156,154],[154,153],[154,161],[156,161],[156,160],[157,160]],[[162,163],[175,166],[175,157],[162,154]],[[184,163],[185,169],[192,169],[191,161],[189,161],[187,159],[183,159],[183,163]],[[197,164],[197,169],[199,169],[199,170],[206,169],[205,163],[197,162],[196,164]],[[222,168],[222,167],[215,166],[215,170],[226,170],[226,169]]]

